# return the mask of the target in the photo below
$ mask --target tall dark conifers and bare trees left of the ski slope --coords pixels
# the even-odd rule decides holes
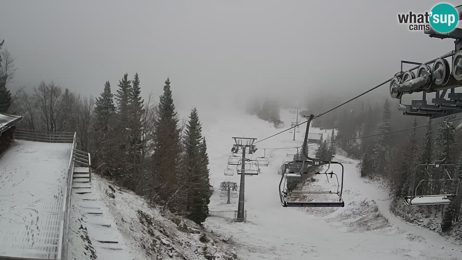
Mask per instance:
[[[198,224],[208,216],[210,199],[207,143],[199,112],[180,124],[170,79],[158,100],[141,98],[141,77],[124,74],[113,93],[101,82],[99,97],[84,97],[53,81],[33,91],[9,90],[17,68],[1,49],[0,112],[23,116],[18,128],[76,132],[78,149],[91,151],[92,168],[103,177]],[[161,86],[159,84],[159,86]],[[115,100],[115,101],[114,101]]]

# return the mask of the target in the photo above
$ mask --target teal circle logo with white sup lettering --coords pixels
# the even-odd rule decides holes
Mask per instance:
[[[430,25],[435,31],[444,33],[456,28],[459,22],[459,13],[450,4],[438,4],[433,7],[431,12]]]

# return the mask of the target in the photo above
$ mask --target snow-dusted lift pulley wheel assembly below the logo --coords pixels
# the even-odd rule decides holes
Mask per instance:
[[[462,29],[455,28],[444,34],[430,29],[425,33],[430,37],[455,39],[454,50],[425,63],[401,61],[401,71],[390,80],[390,95],[399,99],[398,109],[404,115],[440,118],[460,113],[462,93],[456,93],[455,88],[462,86]],[[451,56],[452,61],[447,61]],[[403,64],[418,66],[403,71]],[[414,92],[422,92],[422,98],[412,100],[410,105],[402,104],[402,95]],[[432,92],[435,93],[435,98],[431,99],[431,104],[427,104],[426,94]]]

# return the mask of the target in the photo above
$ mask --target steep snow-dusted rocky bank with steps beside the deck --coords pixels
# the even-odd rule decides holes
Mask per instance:
[[[236,258],[231,241],[222,241],[189,220],[162,215],[144,198],[99,176],[92,178],[91,193],[76,192],[79,191],[73,192],[69,260]]]

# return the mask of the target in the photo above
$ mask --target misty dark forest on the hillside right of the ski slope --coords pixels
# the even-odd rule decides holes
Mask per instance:
[[[315,104],[310,102],[310,112],[316,114]],[[328,103],[328,102],[327,102]],[[455,116],[438,118],[413,118],[403,116],[397,109],[390,108],[389,99],[379,104],[377,100],[363,99],[359,102],[347,104],[340,111],[332,111],[326,118],[316,118],[313,126],[323,129],[334,130],[330,140],[340,141],[353,139],[361,136],[384,134],[394,130],[401,130],[423,126],[438,122],[444,122],[456,118]],[[336,105],[336,104],[335,104]],[[396,105],[397,107],[397,105]],[[315,111],[316,110],[316,111]],[[406,210],[403,198],[411,195],[414,167],[419,163],[432,163],[435,160],[444,160],[459,166],[459,172],[449,169],[451,176],[458,178],[462,169],[462,129],[457,128],[459,120],[448,125],[445,123],[427,126],[419,129],[402,131],[393,134],[385,134],[361,139],[348,140],[331,144],[336,146],[329,152],[330,147],[324,141],[316,151],[316,157],[324,161],[331,159],[335,153],[341,153],[353,159],[360,160],[359,172],[362,177],[382,177],[389,182],[390,193],[394,198],[392,210],[395,214],[409,218],[413,210]],[[329,140],[329,141],[330,141]],[[449,153],[447,153],[449,151]],[[428,179],[432,174],[433,179],[447,179],[443,169],[421,168],[416,172],[416,183]],[[455,192],[454,182],[423,182],[418,189],[422,195],[438,194],[439,192]],[[461,193],[461,189],[459,189]],[[419,207],[425,214],[441,217],[441,231],[451,229],[453,222],[459,222],[462,218],[461,195],[458,194],[454,203],[449,205]],[[417,209],[416,209],[417,210]]]

